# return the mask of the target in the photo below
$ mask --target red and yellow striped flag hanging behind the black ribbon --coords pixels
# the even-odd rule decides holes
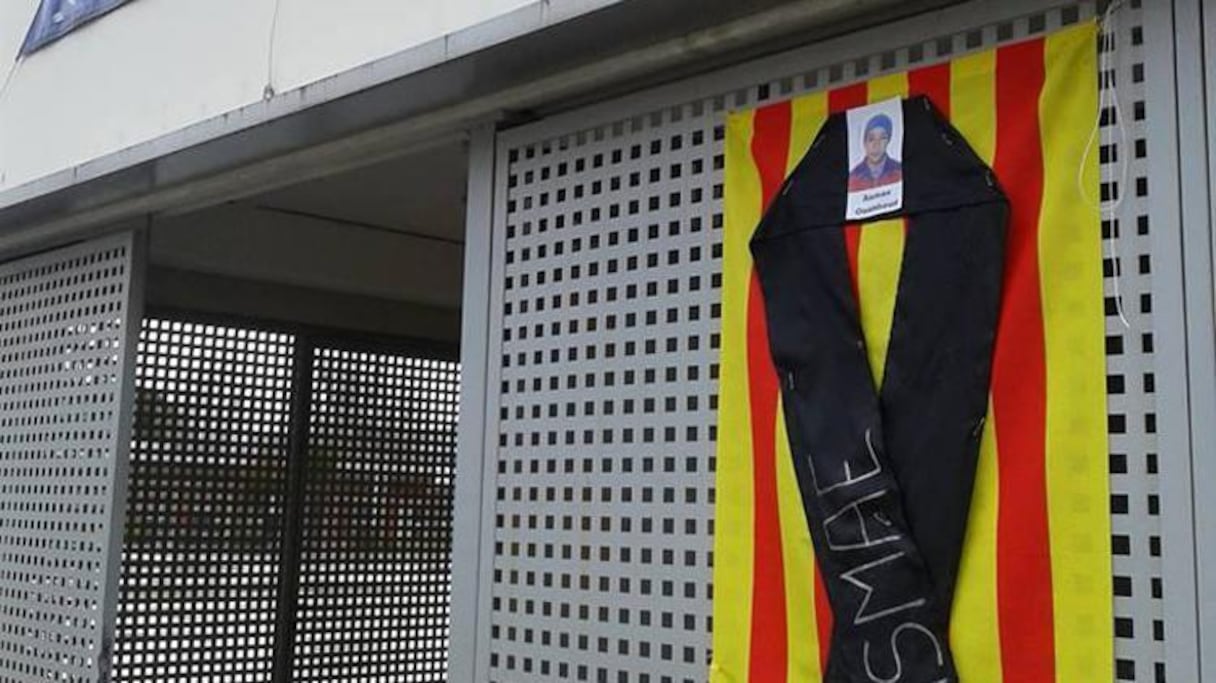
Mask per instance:
[[[1086,153],[1097,50],[1097,26],[1083,23],[728,118],[713,683],[821,681],[833,622],[749,239],[829,114],[913,95],[950,119],[1009,201],[989,418],[951,613],[959,678],[1113,679],[1098,159]],[[858,235],[862,332],[882,363],[905,235]]]

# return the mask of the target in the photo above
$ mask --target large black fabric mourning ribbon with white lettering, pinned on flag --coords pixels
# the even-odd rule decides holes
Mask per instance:
[[[845,114],[824,123],[751,239],[835,615],[828,683],[958,681],[950,606],[987,412],[1008,203],[928,98],[902,111],[903,204],[876,216],[902,216],[907,230],[877,391],[844,237]]]

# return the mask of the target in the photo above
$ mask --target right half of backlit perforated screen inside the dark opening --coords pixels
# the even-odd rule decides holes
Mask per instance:
[[[314,354],[294,681],[446,681],[456,362]]]

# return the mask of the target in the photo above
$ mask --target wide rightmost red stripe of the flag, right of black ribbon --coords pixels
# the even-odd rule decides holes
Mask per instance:
[[[1046,391],[1038,214],[1043,40],[997,51],[996,159],[1009,197],[1004,292],[992,367],[997,420],[997,604],[1006,683],[1055,679],[1047,527]]]

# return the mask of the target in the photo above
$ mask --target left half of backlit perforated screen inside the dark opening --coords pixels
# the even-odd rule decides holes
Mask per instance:
[[[116,679],[271,679],[294,337],[146,320]]]

